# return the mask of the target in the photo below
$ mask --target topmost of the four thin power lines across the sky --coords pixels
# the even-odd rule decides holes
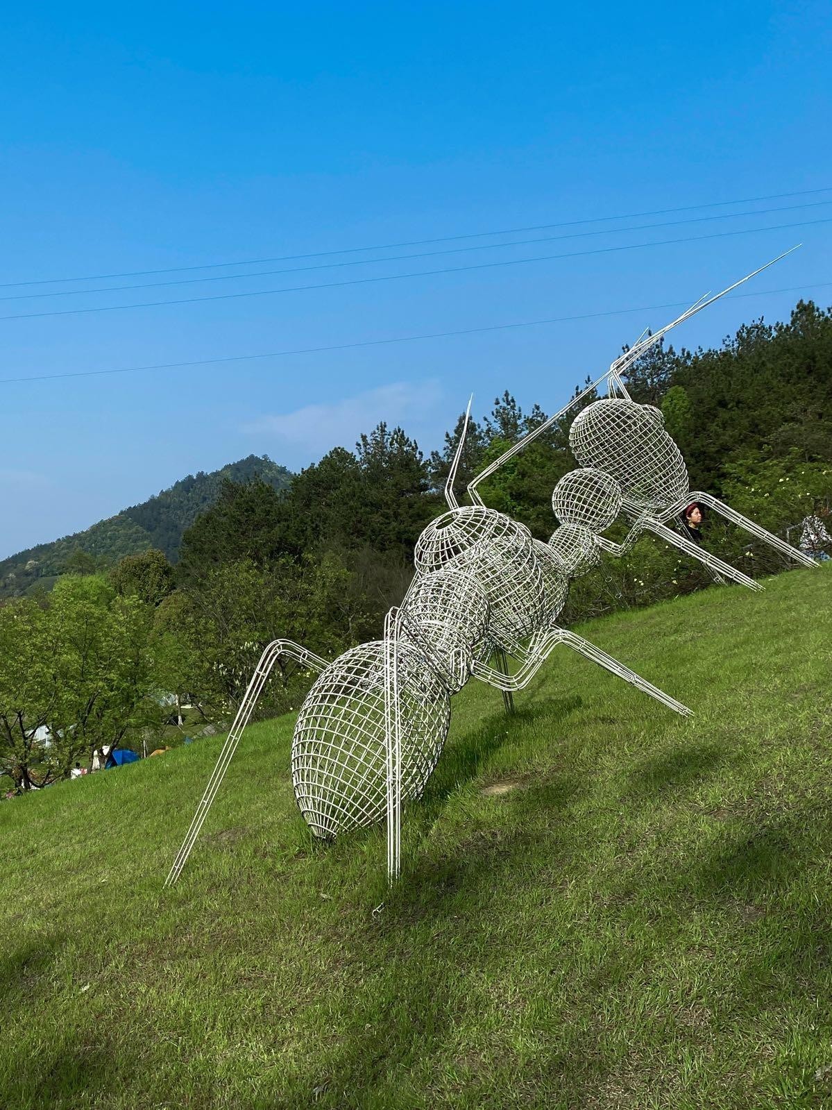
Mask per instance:
[[[463,235],[443,235],[434,239],[414,239],[407,242],[399,243],[379,243],[375,246],[349,246],[341,248],[333,251],[313,251],[305,254],[282,254],[274,258],[267,259],[245,259],[237,262],[209,262],[202,265],[192,266],[169,266],[166,269],[158,270],[126,270],[120,273],[106,273],[106,274],[87,274],[85,276],[72,276],[72,278],[39,278],[37,280],[30,281],[13,281],[13,282],[2,282],[0,283],[0,289],[11,289],[14,286],[23,285],[58,285],[65,282],[75,281],[108,281],[111,278],[143,278],[153,274],[172,274],[172,273],[189,273],[194,270],[221,270],[227,266],[253,266],[253,265],[265,265],[271,262],[296,262],[301,259],[321,259],[326,256],[332,256],[336,254],[357,254],[359,252],[366,251],[392,251],[400,250],[406,246],[429,246],[434,243],[451,243],[459,242],[466,239],[486,239],[489,235],[519,235],[525,232],[531,231],[549,231],[555,228],[577,228],[586,223],[613,223],[617,220],[640,220],[642,218],[652,215],[671,215],[676,212],[692,212],[698,209],[712,209],[712,208],[728,208],[731,204],[759,204],[762,201],[775,201],[775,200],[787,200],[792,196],[816,196],[819,193],[832,192],[832,185],[828,185],[823,189],[803,189],[791,193],[769,193],[765,196],[743,196],[731,201],[710,201],[707,204],[686,204],[680,208],[670,209],[652,209],[649,212],[628,212],[622,215],[601,215],[592,216],[586,220],[566,220],[560,223],[539,223],[531,224],[526,228],[504,228],[499,231],[477,231],[469,232]]]

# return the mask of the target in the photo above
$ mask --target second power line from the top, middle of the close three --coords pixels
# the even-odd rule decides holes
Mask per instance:
[[[121,293],[132,289],[160,289],[170,285],[196,285],[212,281],[239,281],[242,278],[273,278],[276,274],[305,273],[311,270],[334,270],[343,266],[369,266],[383,262],[406,262],[414,259],[433,259],[445,254],[466,254],[470,251],[495,251],[509,246],[529,246],[536,243],[552,243],[564,239],[588,239],[595,235],[615,235],[631,231],[651,231],[656,228],[674,228],[687,223],[709,223],[713,220],[740,220],[750,215],[768,215],[771,212],[793,212],[795,209],[824,208],[832,200],[812,201],[806,204],[787,204],[780,208],[758,209],[753,212],[728,212],[720,215],[699,215],[688,220],[666,220],[661,223],[641,223],[631,228],[610,228],[600,231],[574,231],[566,235],[545,235],[540,239],[519,239],[508,243],[481,243],[477,246],[454,246],[444,251],[422,251],[416,254],[392,254],[384,259],[352,259],[347,262],[323,262],[311,266],[294,266],[288,270],[255,270],[246,274],[216,274],[211,278],[180,278],[176,281],[143,282],[139,285],[105,285],[103,289],[64,289],[51,293],[14,293],[0,296],[0,301],[33,301],[50,296],[91,296],[94,293]],[[0,286],[1,289],[2,286]]]

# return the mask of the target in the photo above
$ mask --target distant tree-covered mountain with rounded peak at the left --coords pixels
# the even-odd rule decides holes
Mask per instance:
[[[210,474],[203,471],[195,476],[189,474],[170,490],[99,521],[85,532],[38,544],[0,561],[0,598],[29,593],[37,586],[51,589],[55,578],[72,565],[71,561],[79,558],[79,552],[109,565],[124,555],[156,547],[175,562],[182,533],[214,504],[223,481],[247,482],[255,475],[275,490],[285,490],[292,478],[285,466],[273,463],[267,455],[248,455]]]

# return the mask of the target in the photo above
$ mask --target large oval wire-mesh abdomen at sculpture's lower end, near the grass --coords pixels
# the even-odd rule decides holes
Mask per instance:
[[[333,839],[381,821],[387,805],[385,644],[346,652],[317,678],[292,741],[292,783],[304,820]],[[397,654],[402,799],[418,798],[445,744],[450,695],[423,654]]]

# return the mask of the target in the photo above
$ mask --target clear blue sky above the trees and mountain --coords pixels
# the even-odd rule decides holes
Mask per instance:
[[[0,377],[335,346],[832,282],[825,3],[43,3],[0,36]],[[805,196],[694,209],[806,190]],[[792,205],[809,205],[792,208]],[[689,208],[536,233],[98,282]],[[774,206],[780,213],[737,213]],[[645,223],[730,215],[640,231]],[[579,253],[718,232],[700,242]],[[599,232],[365,264],[364,260]],[[484,261],[516,265],[202,303]],[[119,290],[333,262],[361,265]],[[754,292],[748,289],[748,292]],[[28,296],[73,292],[72,295]],[[21,299],[27,295],[27,299]],[[721,302],[710,344],[798,293]],[[832,285],[806,289],[824,305]],[[61,312],[59,315],[24,314]],[[297,468],[378,420],[428,451],[469,392],[552,411],[674,314],[134,374],[0,384],[0,556],[252,452]],[[703,430],[702,434],[707,434]]]

